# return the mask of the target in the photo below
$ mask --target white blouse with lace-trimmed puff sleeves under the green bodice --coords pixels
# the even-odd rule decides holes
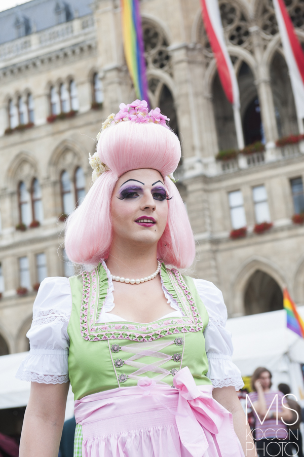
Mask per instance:
[[[122,318],[110,313],[115,304],[112,293],[114,288],[109,274],[108,280],[109,288],[103,306],[102,321],[104,322],[106,315],[109,321],[121,321]],[[244,383],[240,370],[231,358],[233,346],[231,334],[225,329],[227,310],[222,293],[209,281],[194,279],[194,282],[209,314],[209,323],[204,331],[209,362],[207,377],[214,387],[234,386],[239,390]],[[170,316],[176,316],[181,311],[163,283],[162,287],[172,308]],[[34,301],[33,321],[27,332],[30,351],[17,372],[19,379],[44,384],[62,384],[68,381],[67,326],[71,308],[68,278],[46,278],[41,283]]]

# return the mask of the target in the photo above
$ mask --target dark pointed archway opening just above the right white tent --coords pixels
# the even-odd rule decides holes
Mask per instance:
[[[278,283],[267,273],[256,270],[249,278],[244,293],[246,315],[283,309],[283,293]]]

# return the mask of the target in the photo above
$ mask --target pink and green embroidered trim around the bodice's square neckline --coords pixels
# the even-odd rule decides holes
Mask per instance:
[[[108,289],[107,275],[101,264],[91,272],[83,272],[83,297],[80,316],[82,337],[90,341],[106,339],[153,341],[174,333],[203,330],[203,323],[195,301],[181,274],[176,269],[167,270],[164,264],[162,264],[162,271],[169,276],[185,316],[161,319],[150,324],[137,324],[134,322],[109,322],[103,324],[97,322],[106,296],[106,290]],[[105,284],[101,286],[100,276],[105,276],[103,278]],[[102,290],[99,290],[100,287]]]

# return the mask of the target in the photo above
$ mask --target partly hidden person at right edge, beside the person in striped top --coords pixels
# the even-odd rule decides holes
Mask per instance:
[[[301,407],[298,404],[298,402],[294,399],[294,397],[290,394],[290,387],[288,384],[281,383],[278,386],[278,389],[280,392],[282,392],[283,395],[287,395],[286,400],[288,403],[288,406],[293,410],[292,412],[292,421],[291,425],[288,427],[290,432],[289,432],[289,443],[290,446],[294,449],[296,449],[298,457],[303,457],[303,444],[302,444],[302,434],[300,431],[300,423],[302,422],[302,414],[301,414]],[[296,412],[297,414],[296,414]],[[289,452],[290,453],[290,452]],[[291,454],[291,455],[296,455],[296,454]]]

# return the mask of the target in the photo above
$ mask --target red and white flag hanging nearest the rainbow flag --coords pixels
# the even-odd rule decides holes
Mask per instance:
[[[239,86],[236,73],[224,40],[223,26],[217,0],[201,0],[205,30],[216,59],[217,71],[227,99],[240,106]]]

